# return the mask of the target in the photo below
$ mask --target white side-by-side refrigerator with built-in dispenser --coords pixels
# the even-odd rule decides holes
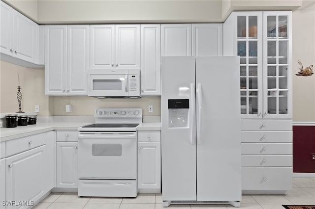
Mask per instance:
[[[237,56],[161,58],[163,206],[240,207]]]

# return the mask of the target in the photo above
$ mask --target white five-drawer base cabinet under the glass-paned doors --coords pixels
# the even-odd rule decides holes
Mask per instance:
[[[284,194],[292,188],[292,121],[242,120],[243,194]]]

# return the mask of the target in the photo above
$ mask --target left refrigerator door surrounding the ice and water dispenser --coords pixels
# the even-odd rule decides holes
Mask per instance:
[[[194,132],[195,57],[162,57],[161,152],[162,199],[196,200],[196,142]],[[191,89],[193,91],[191,93]],[[169,125],[169,99],[189,99],[185,127]],[[174,110],[174,109],[171,109]],[[182,111],[184,109],[178,109]]]

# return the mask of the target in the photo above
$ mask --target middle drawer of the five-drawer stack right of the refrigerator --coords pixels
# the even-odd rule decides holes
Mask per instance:
[[[292,155],[292,143],[242,143],[242,155]]]

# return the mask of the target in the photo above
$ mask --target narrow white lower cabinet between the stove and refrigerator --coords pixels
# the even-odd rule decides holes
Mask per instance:
[[[160,131],[138,131],[139,193],[161,192],[161,143],[155,141],[160,141]]]

